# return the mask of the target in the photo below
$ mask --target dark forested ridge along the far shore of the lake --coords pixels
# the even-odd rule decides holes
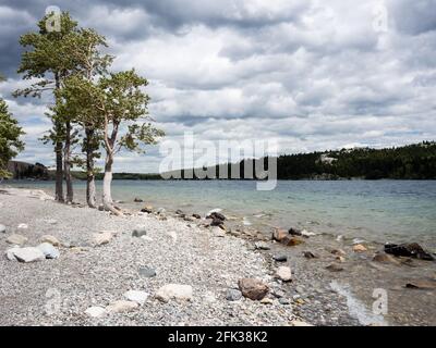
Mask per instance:
[[[268,158],[264,161],[267,167]],[[252,165],[254,162],[252,161]],[[228,172],[240,166],[244,173],[244,161],[239,163],[222,163],[209,167],[218,173]],[[40,163],[29,164],[10,161],[9,171],[14,178],[52,179],[55,173]],[[190,177],[192,170],[183,170],[181,179],[198,179]],[[72,173],[76,179],[85,179],[84,172]],[[96,175],[97,179],[102,174]],[[283,154],[277,158],[278,179],[436,179],[436,141],[424,141],[403,147],[385,149],[356,148],[324,152]],[[162,179],[157,173],[114,173],[113,179]],[[244,179],[244,177],[242,177]]]

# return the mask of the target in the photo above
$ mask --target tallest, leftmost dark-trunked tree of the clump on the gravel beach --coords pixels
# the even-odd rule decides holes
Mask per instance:
[[[71,52],[75,49],[77,23],[68,12],[63,12],[60,16],[60,30],[49,32],[46,27],[49,20],[50,15],[45,16],[38,23],[38,32],[27,33],[20,38],[20,44],[27,50],[22,53],[17,72],[24,74],[24,79],[36,82],[25,89],[16,90],[15,97],[40,97],[45,91],[59,90],[63,87],[64,79],[76,71],[77,63]],[[55,102],[57,103],[58,101]],[[72,201],[71,120],[53,114],[52,123],[50,139],[56,153],[56,199],[64,201],[62,181],[65,171],[66,201]]]

